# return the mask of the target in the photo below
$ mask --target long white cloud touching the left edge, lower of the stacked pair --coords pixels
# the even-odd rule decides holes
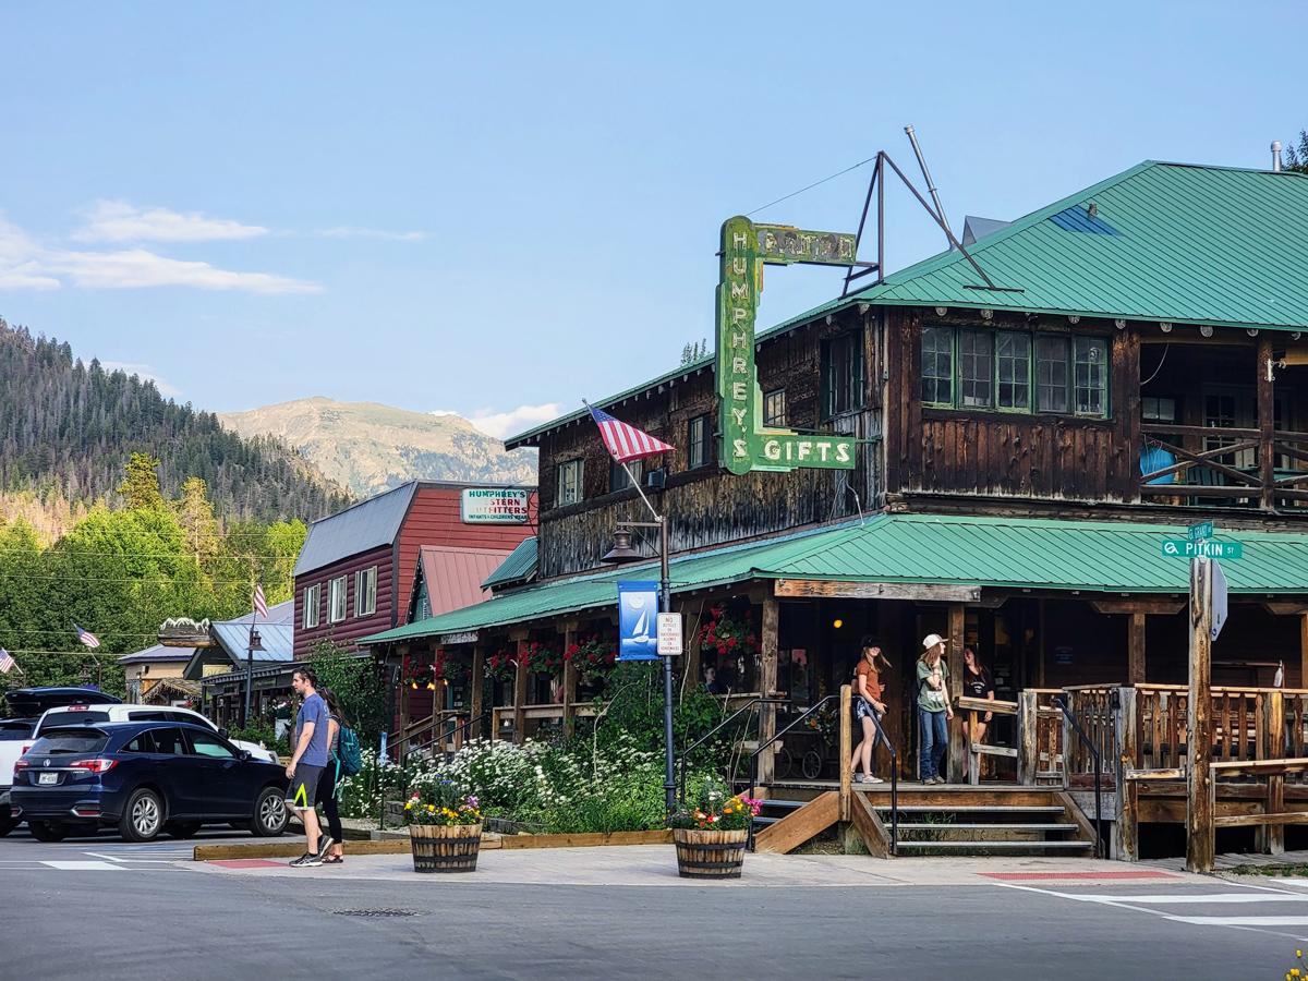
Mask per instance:
[[[145,249],[115,251],[42,246],[0,218],[0,289],[140,289],[191,286],[245,293],[317,293],[317,283],[267,272],[220,269],[207,262],[170,259]]]

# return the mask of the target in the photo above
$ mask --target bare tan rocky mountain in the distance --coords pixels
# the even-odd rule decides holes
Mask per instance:
[[[272,436],[360,497],[409,480],[535,484],[536,454],[504,443],[466,419],[324,398],[218,416],[242,436]]]

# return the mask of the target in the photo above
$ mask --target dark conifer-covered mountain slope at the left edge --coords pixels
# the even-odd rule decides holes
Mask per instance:
[[[351,504],[286,443],[243,438],[150,381],[85,364],[68,344],[0,319],[0,513],[115,501],[137,451],[160,459],[169,497],[203,477],[221,518],[307,522]]]

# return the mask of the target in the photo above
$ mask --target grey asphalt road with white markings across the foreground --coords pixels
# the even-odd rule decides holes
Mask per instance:
[[[1243,980],[1283,977],[1308,937],[1296,883],[453,884],[187,852],[0,840],[0,977]]]

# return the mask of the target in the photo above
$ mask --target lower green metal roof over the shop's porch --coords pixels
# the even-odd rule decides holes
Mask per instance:
[[[1179,526],[882,514],[862,522],[799,532],[674,559],[672,591],[748,579],[957,583],[1079,590],[1186,593],[1189,565],[1164,559],[1164,538]],[[1244,543],[1244,557],[1223,564],[1231,593],[1308,593],[1308,535],[1220,532]],[[386,644],[521,624],[615,606],[619,579],[658,577],[654,562],[528,586],[464,610],[365,637]]]

